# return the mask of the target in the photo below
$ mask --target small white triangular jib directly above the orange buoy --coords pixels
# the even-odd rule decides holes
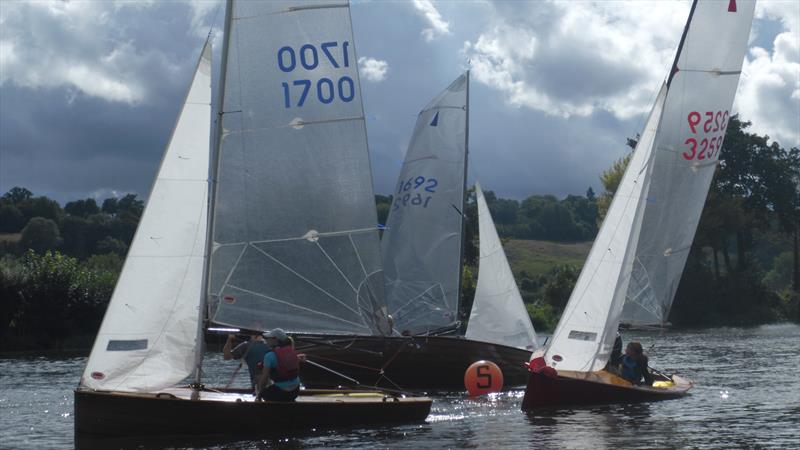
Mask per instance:
[[[466,337],[474,341],[535,350],[538,346],[536,332],[478,183],[475,183],[475,197],[478,203],[480,263]]]

